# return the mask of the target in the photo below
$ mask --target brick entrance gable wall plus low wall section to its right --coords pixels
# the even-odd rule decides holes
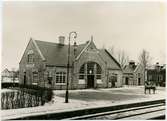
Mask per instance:
[[[87,62],[95,62],[100,65],[102,69],[101,79],[94,80],[94,87],[95,88],[107,88],[109,86],[109,77],[115,73],[117,74],[117,82],[115,87],[122,86],[122,71],[121,70],[108,70],[105,60],[99,55],[98,50],[92,43],[85,52],[82,53],[80,58],[74,63],[74,82],[73,88],[87,88],[88,85],[88,77],[85,75],[83,80],[80,80],[79,77],[79,70],[81,66]],[[111,84],[110,84],[111,85]]]

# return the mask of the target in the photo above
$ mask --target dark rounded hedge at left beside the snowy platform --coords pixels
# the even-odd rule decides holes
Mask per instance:
[[[12,107],[9,108],[8,104],[13,104],[13,101],[15,103],[18,103],[18,105],[15,106],[14,108],[44,105],[46,102],[51,101],[53,97],[53,91],[50,88],[44,88],[37,85],[23,85],[18,83],[3,84],[3,88],[10,88],[10,87],[17,87],[15,89],[17,89],[18,92],[17,93],[15,92],[15,95],[16,95],[15,98],[9,98],[8,97],[9,93],[8,94],[5,93],[1,95],[1,101],[3,101],[3,103],[1,104],[5,106],[4,108],[2,107],[2,109],[11,109]],[[13,97],[13,95],[11,95],[11,97]],[[16,99],[19,99],[19,100],[16,100]]]

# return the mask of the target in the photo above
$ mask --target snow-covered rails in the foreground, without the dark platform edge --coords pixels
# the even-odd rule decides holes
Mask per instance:
[[[67,118],[67,120],[165,119],[165,102]]]

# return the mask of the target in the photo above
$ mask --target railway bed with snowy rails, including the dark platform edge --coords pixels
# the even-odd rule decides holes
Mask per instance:
[[[113,120],[113,119],[165,119],[165,99],[134,102],[106,107],[73,109],[44,113],[15,120]]]

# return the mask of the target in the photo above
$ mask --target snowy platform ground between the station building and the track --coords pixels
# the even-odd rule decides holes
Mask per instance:
[[[64,103],[64,96],[65,90],[55,90],[52,101],[46,103],[44,106],[1,110],[2,119],[164,99],[165,88],[158,87],[156,94],[146,95],[144,94],[143,86],[69,90],[69,103]]]

